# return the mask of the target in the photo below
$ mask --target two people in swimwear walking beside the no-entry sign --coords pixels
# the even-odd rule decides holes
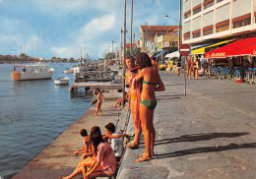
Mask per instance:
[[[199,77],[198,70],[201,68],[200,61],[197,58],[194,58],[193,61],[191,57],[188,57],[186,60],[186,68],[186,79],[189,78],[189,80],[191,80],[191,73],[193,72],[194,79],[197,80]]]

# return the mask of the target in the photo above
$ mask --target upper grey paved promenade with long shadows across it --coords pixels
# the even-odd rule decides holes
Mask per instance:
[[[154,159],[126,149],[118,179],[255,179],[256,85],[160,73]],[[128,126],[132,131],[132,121]]]

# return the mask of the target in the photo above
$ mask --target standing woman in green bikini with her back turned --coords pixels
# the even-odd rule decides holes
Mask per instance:
[[[153,124],[154,110],[157,106],[155,91],[163,91],[164,86],[160,80],[158,71],[153,68],[151,59],[147,53],[140,53],[136,57],[137,65],[143,69],[136,77],[136,81],[142,81],[142,91],[140,100],[140,120],[144,133],[145,152],[142,157],[136,159],[137,162],[150,160],[154,154],[154,143],[156,131]]]

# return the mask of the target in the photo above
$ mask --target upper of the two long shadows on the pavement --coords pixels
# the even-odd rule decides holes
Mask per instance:
[[[170,143],[179,142],[197,142],[197,141],[208,141],[216,138],[236,138],[250,133],[203,133],[203,134],[191,134],[184,135],[179,138],[156,140],[155,146],[165,145]]]

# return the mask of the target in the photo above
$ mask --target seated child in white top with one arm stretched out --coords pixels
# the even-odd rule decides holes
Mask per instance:
[[[122,137],[129,137],[127,134],[117,134],[115,133],[115,126],[113,123],[108,123],[105,125],[105,136],[103,136],[104,141],[108,141],[111,148],[114,150],[114,155],[120,157],[123,150],[123,140]]]

